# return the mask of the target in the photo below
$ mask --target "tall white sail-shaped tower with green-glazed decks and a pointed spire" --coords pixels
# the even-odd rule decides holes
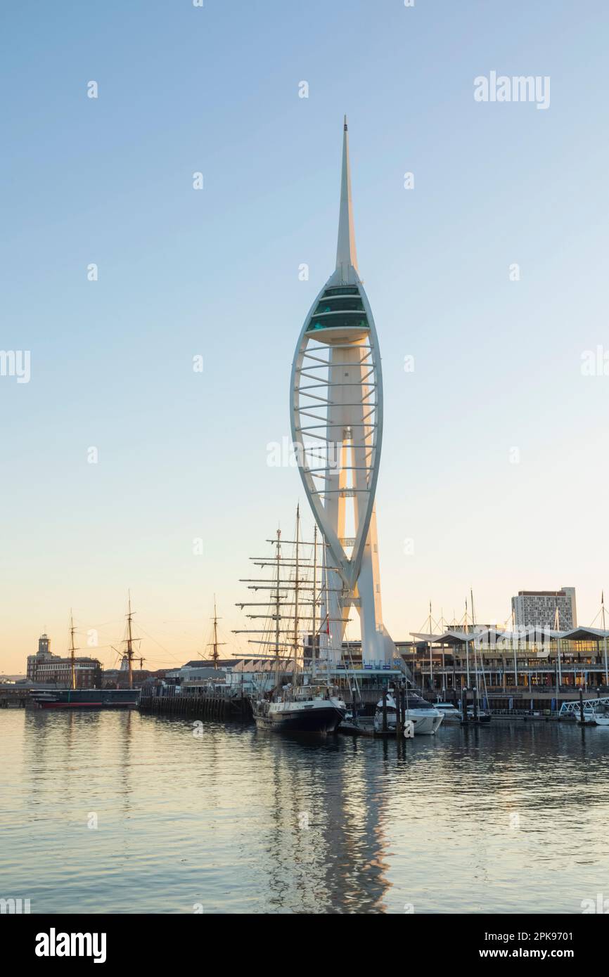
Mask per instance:
[[[390,661],[395,653],[382,624],[374,512],[382,406],[378,340],[358,274],[345,116],[336,270],[311,306],[296,346],[291,436],[331,567],[328,657],[340,656],[346,619],[357,608],[368,664]]]

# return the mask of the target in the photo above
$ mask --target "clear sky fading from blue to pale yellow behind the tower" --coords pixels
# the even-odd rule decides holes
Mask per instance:
[[[384,374],[385,622],[406,637],[429,599],[460,616],[470,586],[479,619],[503,620],[519,588],[561,584],[589,622],[609,590],[609,376],[581,373],[609,348],[607,4],[1,16],[1,345],[31,351],[31,380],[0,377],[0,670],[45,626],[63,651],[70,606],[115,644],[128,587],[151,667],[196,655],[214,591],[225,633],[241,623],[248,555],[303,500],[267,445],[333,268],[343,112]],[[491,70],[548,75],[549,108],[476,103]]]

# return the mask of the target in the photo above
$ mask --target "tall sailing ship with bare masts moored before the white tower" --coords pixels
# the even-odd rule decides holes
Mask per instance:
[[[252,562],[272,575],[241,582],[254,592],[268,590],[268,600],[238,605],[241,610],[253,608],[247,617],[264,624],[236,632],[256,635],[248,638],[250,644],[261,646],[254,658],[274,663],[271,682],[268,670],[261,669],[256,676],[256,690],[250,697],[256,725],[274,732],[333,733],[347,707],[326,681],[320,660],[320,633],[327,625],[318,613],[327,603],[326,556],[322,568],[318,565],[318,550],[324,544],[319,543],[317,526],[313,542],[302,539],[299,508],[295,538],[283,540],[278,530],[276,538],[267,542],[273,544],[274,554],[254,557]]]

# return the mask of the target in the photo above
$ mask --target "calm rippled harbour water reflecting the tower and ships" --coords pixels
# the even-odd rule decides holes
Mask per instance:
[[[31,913],[582,913],[609,897],[609,730],[285,739],[0,712],[3,898]]]

